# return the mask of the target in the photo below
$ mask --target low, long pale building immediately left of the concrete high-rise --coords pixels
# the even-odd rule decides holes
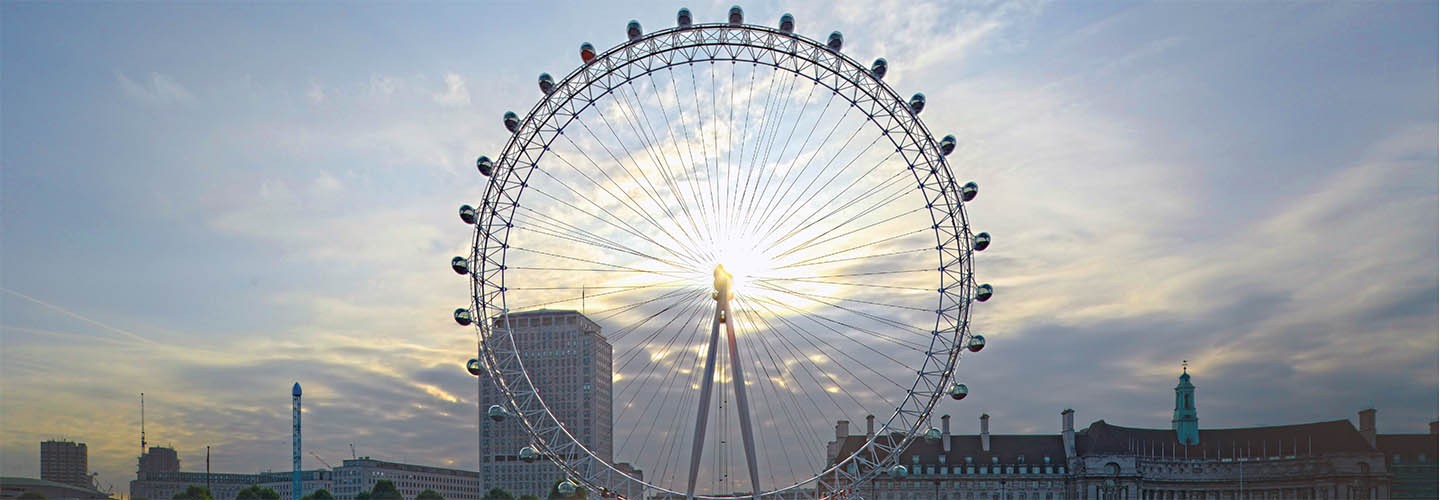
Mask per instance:
[[[279,480],[281,483],[289,481],[288,476]],[[330,493],[336,496],[336,500],[354,500],[361,491],[373,490],[374,483],[382,480],[395,483],[395,488],[400,490],[406,499],[415,499],[425,490],[435,490],[445,500],[480,500],[485,494],[481,491],[480,473],[475,471],[389,463],[370,457],[346,460],[334,468],[328,484],[333,486]],[[310,487],[308,480],[305,487]],[[487,484],[485,488],[488,490],[490,486]],[[282,493],[281,499],[284,497]]]

